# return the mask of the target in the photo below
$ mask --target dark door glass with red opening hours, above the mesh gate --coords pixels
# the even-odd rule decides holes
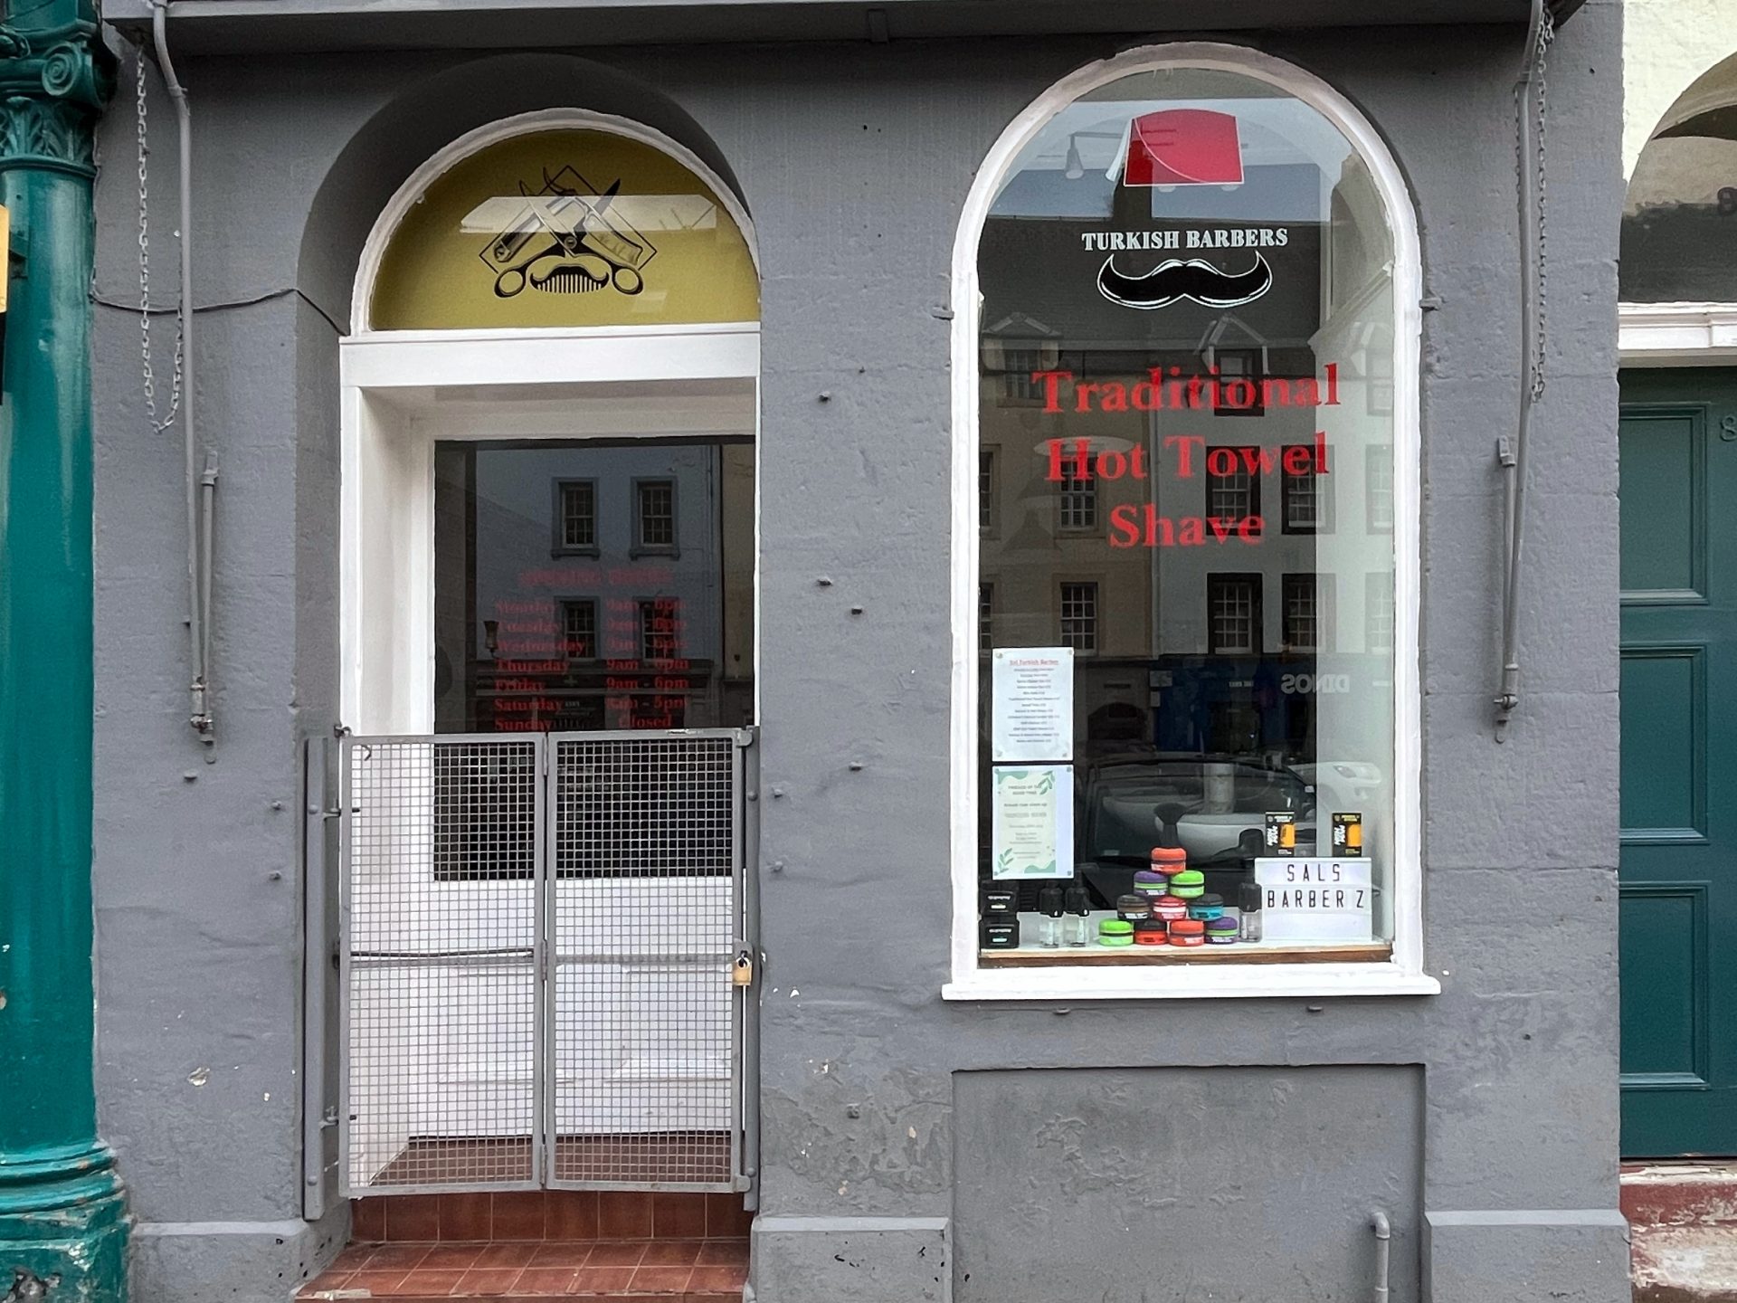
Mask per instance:
[[[434,474],[434,731],[752,723],[750,443],[439,443]]]

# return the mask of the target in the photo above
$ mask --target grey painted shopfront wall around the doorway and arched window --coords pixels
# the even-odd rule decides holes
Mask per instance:
[[[1492,441],[1513,424],[1518,386],[1522,31],[1254,38],[1358,103],[1423,221],[1436,301],[1423,389],[1433,999],[940,999],[952,243],[973,169],[1007,120],[1119,42],[624,49],[603,56],[615,71],[565,56],[191,61],[196,299],[210,306],[201,429],[222,469],[215,754],[182,721],[179,438],[142,417],[135,316],[99,308],[96,344],[99,1096],[141,1220],[137,1296],[280,1298],[339,1232],[340,1214],[297,1234],[295,813],[297,742],[328,731],[335,709],[335,341],[360,241],[396,184],[472,125],[566,103],[651,120],[728,162],[763,259],[763,766],[775,796],[761,869],[763,1303],[948,1296],[954,1239],[992,1223],[966,1216],[980,1204],[964,1195],[955,1209],[955,1110],[976,1126],[959,1100],[1006,1101],[1006,1129],[983,1131],[992,1147],[1025,1145],[1058,1112],[1056,1086],[983,1096],[959,1074],[1304,1065],[1369,1065],[1353,1072],[1358,1091],[1397,1068],[1421,1074],[1414,1152],[1381,1143],[1397,1171],[1421,1173],[1431,1234],[1405,1270],[1426,1296],[1485,1296],[1480,1263],[1508,1263],[1515,1280],[1551,1261],[1574,1265],[1551,1268],[1553,1289],[1614,1303],[1626,1270],[1614,1214],[1619,24],[1615,0],[1588,3],[1551,66],[1551,386],[1534,436],[1527,698],[1506,745],[1489,726]],[[167,127],[160,111],[165,302]],[[132,132],[118,106],[101,139],[97,294],[118,304],[137,297]],[[168,328],[156,347],[167,358]],[[1138,1093],[1124,1098],[1100,1107],[1106,1124],[1143,1115]],[[1251,1169],[1254,1202],[1294,1197],[1282,1161]],[[1414,1253],[1424,1227],[1397,1213]],[[1251,1242],[1245,1279],[1285,1277],[1303,1235]],[[1070,1253],[988,1242],[1034,1261]],[[841,1275],[841,1244],[862,1246],[872,1270]],[[935,1286],[931,1247],[948,1263]],[[1133,1225],[1126,1253],[1145,1261],[1157,1247]],[[1018,1275],[1006,1258],[1002,1270]],[[1103,1270],[1079,1265],[1082,1294],[1112,1284]]]

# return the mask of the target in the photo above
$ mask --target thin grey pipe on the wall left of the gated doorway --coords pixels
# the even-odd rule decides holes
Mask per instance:
[[[200,735],[200,742],[212,745],[212,714],[208,700],[207,669],[210,664],[210,519],[212,497],[217,488],[217,462],[212,455],[205,459],[205,473],[196,467],[196,436],[193,427],[193,400],[198,393],[193,384],[193,115],[188,111],[188,92],[175,76],[175,64],[168,59],[168,0],[153,0],[151,36],[156,43],[156,66],[163,73],[163,85],[175,104],[175,130],[179,137],[179,172],[181,181],[181,426],[186,443],[186,495],[188,495],[188,650],[193,660],[191,709],[188,723]],[[205,528],[200,528],[200,507],[203,500]],[[203,547],[203,551],[201,551]]]

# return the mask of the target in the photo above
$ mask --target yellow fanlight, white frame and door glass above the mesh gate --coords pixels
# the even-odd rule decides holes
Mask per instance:
[[[662,716],[644,700],[686,726],[752,723],[759,274],[747,212],[700,149],[591,109],[483,123],[384,203],[351,323],[339,347],[347,724],[651,726]],[[509,474],[497,462],[538,480],[542,499],[479,506],[507,492],[486,488]],[[653,493],[669,544],[646,533]],[[479,579],[486,511],[542,521],[540,565],[521,539],[532,552],[511,563],[512,584]],[[657,655],[637,629],[648,605],[664,624],[683,612],[681,638],[657,638]],[[625,660],[648,676],[679,660],[693,678],[677,691],[662,672],[655,697],[606,691],[603,665]]]

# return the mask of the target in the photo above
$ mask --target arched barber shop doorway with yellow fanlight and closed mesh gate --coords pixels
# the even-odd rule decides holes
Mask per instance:
[[[759,276],[580,111],[429,160],[340,347],[351,1195],[743,1187]]]

